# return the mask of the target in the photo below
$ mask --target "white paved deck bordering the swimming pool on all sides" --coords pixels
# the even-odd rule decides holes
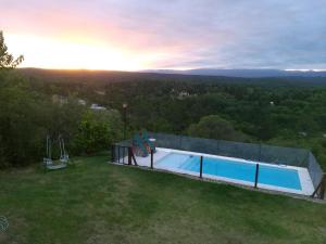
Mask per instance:
[[[190,171],[190,170],[176,169],[176,168],[160,166],[160,164],[158,164],[158,162],[160,159],[162,159],[164,156],[168,155],[170,153],[181,153],[181,154],[189,154],[189,155],[197,155],[197,156],[202,155],[202,156],[208,156],[208,157],[212,157],[212,158],[231,159],[231,160],[235,160],[235,162],[256,164],[256,162],[246,160],[246,159],[240,159],[240,158],[235,158],[235,157],[216,156],[216,155],[211,155],[211,154],[202,154],[202,153],[195,153],[195,152],[188,152],[188,151],[179,151],[179,150],[158,147],[156,152],[153,155],[153,167],[156,168],[156,169],[163,169],[163,170],[173,171],[173,172],[177,172],[177,174],[199,177],[198,172],[193,172],[193,171]],[[147,157],[137,156],[136,160],[137,160],[137,164],[139,166],[150,167],[150,164],[151,164],[151,157],[150,156],[147,156]],[[294,193],[294,194],[300,194],[300,195],[311,195],[314,192],[314,187],[313,187],[312,180],[310,178],[310,175],[309,175],[309,171],[308,171],[306,168],[294,167],[294,166],[285,166],[285,165],[273,165],[273,164],[266,164],[266,163],[261,163],[261,162],[259,164],[260,165],[268,165],[271,167],[288,168],[288,169],[297,170],[298,174],[299,174],[302,190],[280,188],[280,187],[275,187],[275,185],[269,185],[269,184],[262,184],[262,183],[258,183],[258,188],[272,190],[272,191]],[[211,180],[216,180],[216,181],[230,182],[230,183],[235,183],[235,184],[242,184],[242,185],[247,185],[247,187],[253,187],[253,182],[249,182],[249,181],[229,179],[229,178],[212,176],[212,175],[208,175],[208,174],[203,174],[202,177],[206,178],[206,179],[211,179]]]

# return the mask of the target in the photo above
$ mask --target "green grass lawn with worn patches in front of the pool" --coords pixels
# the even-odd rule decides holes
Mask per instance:
[[[0,243],[326,243],[326,205],[105,164],[0,172]]]

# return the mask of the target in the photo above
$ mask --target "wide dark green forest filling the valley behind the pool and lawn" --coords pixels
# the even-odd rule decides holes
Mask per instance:
[[[40,162],[45,138],[63,134],[72,155],[154,132],[306,147],[326,166],[326,87],[321,79],[241,79],[163,74],[1,72],[1,167]],[[98,104],[105,110],[91,110]]]

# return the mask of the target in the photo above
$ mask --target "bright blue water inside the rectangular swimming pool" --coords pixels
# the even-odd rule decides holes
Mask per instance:
[[[158,166],[166,169],[200,171],[200,157],[179,153],[170,153],[158,162]],[[242,180],[254,183],[255,164],[231,159],[203,157],[203,174]],[[299,174],[296,169],[260,165],[259,183],[301,190]]]

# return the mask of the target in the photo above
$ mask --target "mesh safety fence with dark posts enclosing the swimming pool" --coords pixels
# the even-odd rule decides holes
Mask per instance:
[[[166,147],[174,150],[191,151],[202,154],[221,155],[228,157],[243,158],[254,162],[264,162],[274,165],[288,165],[297,167],[305,167],[312,179],[315,192],[312,197],[324,198],[326,177],[316,162],[314,155],[302,149],[281,147],[264,144],[231,142],[224,140],[191,138],[185,136],[152,133],[150,137],[156,139],[158,147]],[[131,140],[125,140],[112,145],[112,162],[118,164],[133,163],[137,165],[134,151],[131,147]],[[150,168],[154,168],[153,152],[150,154]],[[252,187],[259,185],[260,165],[255,165],[254,176],[251,181],[254,182]],[[200,156],[199,178],[203,178],[203,156]]]

